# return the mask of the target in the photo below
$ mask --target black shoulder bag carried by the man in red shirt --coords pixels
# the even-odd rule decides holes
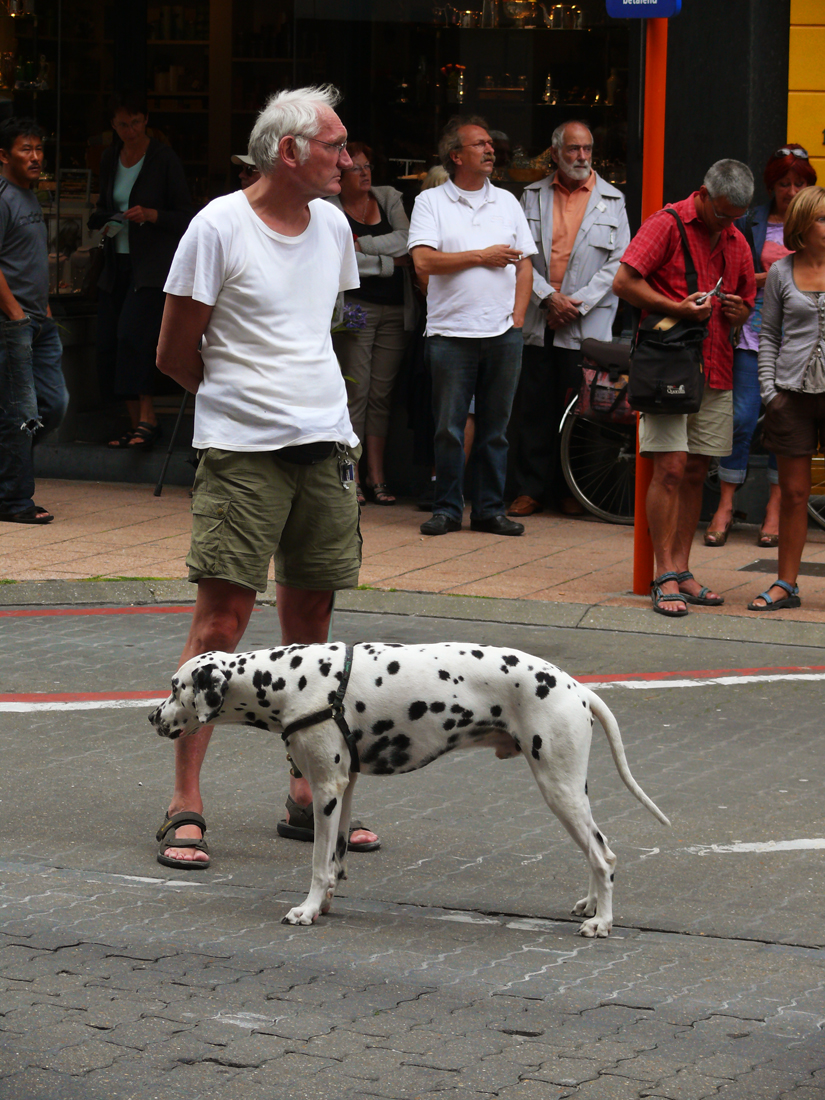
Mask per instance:
[[[676,219],[684,253],[688,293],[698,289],[696,266],[688,245],[682,219],[672,207],[664,208]],[[674,320],[651,314],[637,322],[630,351],[628,400],[637,413],[697,413],[705,388],[702,345],[707,336],[703,321]]]

